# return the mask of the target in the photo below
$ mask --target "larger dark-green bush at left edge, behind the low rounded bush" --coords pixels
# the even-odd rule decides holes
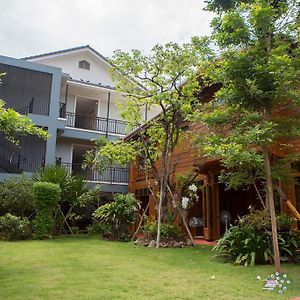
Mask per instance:
[[[34,214],[33,181],[26,175],[11,177],[0,183],[0,211],[21,217]]]

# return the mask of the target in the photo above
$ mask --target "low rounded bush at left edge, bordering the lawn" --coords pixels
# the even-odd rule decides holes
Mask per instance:
[[[10,213],[0,217],[0,237],[4,240],[26,240],[30,237],[30,222]]]

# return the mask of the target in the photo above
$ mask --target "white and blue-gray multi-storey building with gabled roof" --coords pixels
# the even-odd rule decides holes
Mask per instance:
[[[119,139],[130,131],[118,103],[126,98],[115,90],[112,65],[90,46],[81,46],[15,59],[0,56],[0,99],[48,130],[43,141],[20,137],[20,146],[1,136],[0,180],[51,164],[65,166],[88,182],[100,183],[104,193],[128,191],[128,169],[114,167],[103,173],[83,170],[83,155],[100,136]],[[142,112],[151,117],[154,111]]]

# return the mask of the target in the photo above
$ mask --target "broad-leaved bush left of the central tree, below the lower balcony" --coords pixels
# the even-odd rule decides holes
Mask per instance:
[[[139,203],[133,194],[115,194],[114,200],[100,206],[93,216],[106,228],[106,235],[114,239],[124,239],[128,234],[128,226],[137,217]]]

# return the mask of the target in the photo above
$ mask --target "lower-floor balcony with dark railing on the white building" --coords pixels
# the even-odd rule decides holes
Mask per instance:
[[[80,175],[87,181],[108,183],[108,184],[128,184],[128,169],[126,168],[107,168],[103,172],[97,172],[91,168],[82,169],[79,163],[61,163],[69,174]]]

